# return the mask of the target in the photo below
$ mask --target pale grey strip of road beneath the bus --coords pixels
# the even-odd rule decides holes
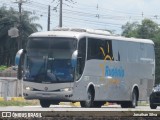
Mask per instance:
[[[160,111],[160,107],[150,109],[149,106],[121,108],[119,105],[103,106],[102,108],[81,108],[70,105],[51,105],[49,108],[42,108],[41,106],[8,106],[0,107],[0,111]]]

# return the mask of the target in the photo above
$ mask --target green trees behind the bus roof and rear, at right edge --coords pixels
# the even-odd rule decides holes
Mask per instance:
[[[144,19],[141,24],[137,22],[126,23],[122,26],[122,36],[143,39],[152,39],[155,44],[156,84],[160,83],[160,28],[150,19]]]

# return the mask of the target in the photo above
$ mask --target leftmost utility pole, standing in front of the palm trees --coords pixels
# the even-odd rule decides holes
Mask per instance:
[[[22,3],[26,1],[16,0],[14,3],[18,3],[19,8],[19,40],[18,40],[18,50],[22,49]]]

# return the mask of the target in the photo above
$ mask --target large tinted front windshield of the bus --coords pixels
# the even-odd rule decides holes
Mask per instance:
[[[30,38],[25,56],[24,81],[63,83],[74,81],[71,57],[75,38]]]

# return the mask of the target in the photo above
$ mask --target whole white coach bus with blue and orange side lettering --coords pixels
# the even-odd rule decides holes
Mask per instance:
[[[114,102],[134,108],[137,101],[149,99],[155,81],[151,40],[101,30],[33,33],[15,60],[24,97],[39,99],[42,107],[59,102],[101,107]]]

